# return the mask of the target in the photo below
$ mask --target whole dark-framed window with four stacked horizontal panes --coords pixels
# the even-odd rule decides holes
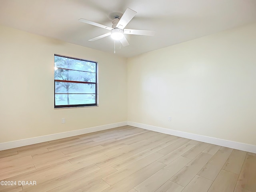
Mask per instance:
[[[54,55],[54,108],[97,106],[97,62]]]

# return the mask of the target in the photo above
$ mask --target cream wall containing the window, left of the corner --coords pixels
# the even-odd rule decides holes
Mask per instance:
[[[54,109],[54,54],[98,62],[99,107]],[[0,26],[0,143],[126,120],[126,58]]]

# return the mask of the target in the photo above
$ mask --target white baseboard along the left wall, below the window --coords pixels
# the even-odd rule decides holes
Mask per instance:
[[[34,137],[34,138],[0,143],[0,151],[6,150],[6,149],[11,149],[11,148],[16,148],[16,147],[21,147],[21,146],[26,146],[26,145],[32,145],[32,144],[36,144],[36,143],[47,142],[47,141],[56,140],[56,139],[62,139],[62,138],[66,138],[66,137],[82,135],[82,134],[101,131],[101,130],[107,130],[107,129],[116,128],[116,127],[120,127],[120,126],[126,126],[126,125],[127,125],[127,122],[125,121],[125,122],[107,124],[107,125],[96,126],[96,127],[91,127],[91,128],[79,129],[79,130],[74,130],[74,131],[45,135],[45,136],[40,136],[40,137]]]

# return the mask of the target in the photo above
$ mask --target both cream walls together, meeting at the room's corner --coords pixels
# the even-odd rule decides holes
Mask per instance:
[[[251,24],[127,60],[0,26],[0,143],[128,120],[256,145],[255,34]],[[98,62],[99,107],[54,109],[54,54]]]

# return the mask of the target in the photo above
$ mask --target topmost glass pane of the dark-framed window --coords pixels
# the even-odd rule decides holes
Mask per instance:
[[[96,72],[96,63],[78,59],[54,56],[54,67],[79,71]]]

